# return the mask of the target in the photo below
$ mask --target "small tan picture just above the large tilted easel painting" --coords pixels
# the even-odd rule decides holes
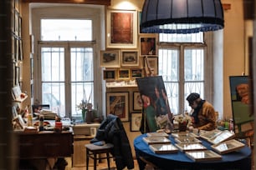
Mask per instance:
[[[144,57],[146,75],[158,75],[158,57]]]

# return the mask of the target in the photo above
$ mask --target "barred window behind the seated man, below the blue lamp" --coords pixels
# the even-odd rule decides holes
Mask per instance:
[[[159,35],[159,75],[163,77],[174,114],[190,111],[186,101],[191,92],[205,97],[206,44],[203,33]]]

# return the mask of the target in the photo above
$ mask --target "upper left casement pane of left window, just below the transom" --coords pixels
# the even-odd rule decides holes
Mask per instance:
[[[42,47],[42,81],[64,81],[64,48]]]

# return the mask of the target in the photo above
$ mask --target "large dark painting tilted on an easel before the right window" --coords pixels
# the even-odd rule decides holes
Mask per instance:
[[[166,89],[161,76],[141,77],[136,79],[141,94],[143,120],[146,120],[144,132],[156,132],[164,129],[172,132],[172,112],[169,107]]]

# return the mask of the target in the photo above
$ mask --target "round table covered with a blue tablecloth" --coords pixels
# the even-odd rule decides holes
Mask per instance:
[[[141,161],[141,157],[163,170],[251,170],[252,152],[247,146],[238,151],[223,154],[221,160],[195,162],[181,151],[167,154],[153,153],[148,144],[143,141],[142,138],[144,137],[146,137],[146,134],[142,134],[134,140],[136,158],[141,170],[144,169],[146,165],[146,163]],[[172,144],[176,143],[171,135],[169,135],[169,138]],[[202,141],[202,145],[212,150],[211,143],[207,143],[207,141],[201,138],[199,139]]]

